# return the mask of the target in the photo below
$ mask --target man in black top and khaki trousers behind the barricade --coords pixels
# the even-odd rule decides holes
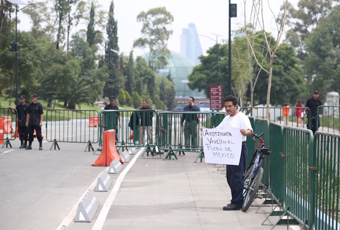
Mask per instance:
[[[143,100],[140,110],[152,110],[148,101]],[[140,111],[139,144],[144,144],[145,130],[148,133],[148,144],[153,143],[153,111]]]

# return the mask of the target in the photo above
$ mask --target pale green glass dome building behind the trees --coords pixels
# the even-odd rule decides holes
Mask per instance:
[[[142,55],[142,58],[148,61],[147,55]],[[171,73],[173,83],[175,84],[176,98],[183,98],[184,95],[185,97],[205,97],[204,91],[198,92],[198,90],[191,90],[187,83],[183,82],[188,80],[187,76],[191,74],[194,67],[194,63],[190,59],[180,53],[171,51],[171,58],[167,61],[168,65],[164,67],[164,69],[169,70]]]

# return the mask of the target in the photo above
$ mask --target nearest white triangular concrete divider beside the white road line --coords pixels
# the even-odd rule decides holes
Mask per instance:
[[[74,222],[91,222],[99,208],[99,200],[91,190],[88,190],[82,201],[78,204],[78,210]]]

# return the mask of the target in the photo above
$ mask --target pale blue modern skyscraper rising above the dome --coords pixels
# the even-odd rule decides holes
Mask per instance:
[[[181,35],[181,54],[190,59],[195,65],[201,63],[198,59],[203,54],[200,40],[194,23],[189,23]]]

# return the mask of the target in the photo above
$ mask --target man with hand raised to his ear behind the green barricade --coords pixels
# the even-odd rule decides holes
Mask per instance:
[[[187,100],[188,105],[184,107],[183,111],[187,112],[195,112],[200,111],[200,108],[198,106],[195,106],[195,98],[189,97]],[[197,146],[197,122],[198,117],[197,114],[190,114],[190,113],[183,113],[181,118],[181,125],[183,127],[183,122],[186,120],[186,124],[184,126],[184,137],[186,138],[186,148],[190,148],[190,136],[191,136],[191,146],[196,147]]]

